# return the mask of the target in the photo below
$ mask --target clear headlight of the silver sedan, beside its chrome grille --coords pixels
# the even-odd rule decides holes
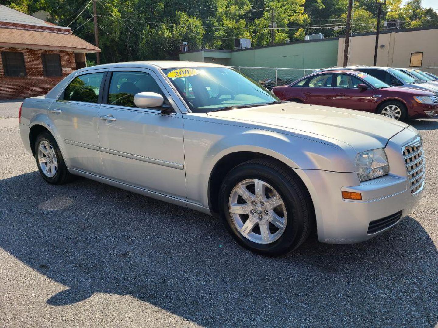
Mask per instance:
[[[357,154],[355,165],[361,182],[381,177],[389,172],[388,159],[383,148]]]

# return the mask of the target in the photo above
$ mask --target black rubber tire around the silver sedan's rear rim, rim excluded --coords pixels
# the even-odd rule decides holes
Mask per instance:
[[[53,147],[53,150],[56,154],[57,170],[56,170],[56,174],[53,177],[48,177],[42,171],[41,164],[39,163],[38,160],[38,147],[42,141],[48,141],[50,145]],[[64,157],[61,154],[61,150],[59,149],[59,146],[55,138],[53,138],[53,136],[50,133],[42,132],[36,137],[34,150],[35,150],[36,165],[38,167],[39,173],[41,174],[44,180],[46,180],[47,182],[53,185],[62,185],[64,183],[71,181],[73,175],[68,171],[67,165],[65,165],[64,162]]]

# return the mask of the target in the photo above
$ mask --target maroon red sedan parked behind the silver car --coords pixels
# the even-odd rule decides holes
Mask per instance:
[[[274,87],[281,100],[374,112],[404,120],[438,113],[438,97],[430,91],[391,87],[357,71],[328,71],[308,75],[290,85]]]

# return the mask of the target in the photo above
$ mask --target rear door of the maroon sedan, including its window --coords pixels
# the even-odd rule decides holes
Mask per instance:
[[[301,90],[305,104],[333,105],[332,73],[318,74],[307,80]]]

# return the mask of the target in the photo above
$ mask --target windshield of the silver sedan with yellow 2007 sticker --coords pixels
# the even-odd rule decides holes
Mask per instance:
[[[269,91],[230,68],[189,67],[163,72],[194,113],[279,101]]]

